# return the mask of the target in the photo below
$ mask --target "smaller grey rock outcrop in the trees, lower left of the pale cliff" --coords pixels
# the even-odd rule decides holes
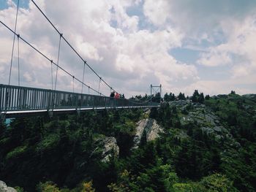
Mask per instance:
[[[109,162],[110,158],[119,156],[119,147],[115,137],[103,137],[97,139],[94,143],[97,147],[91,153],[91,156],[100,155],[102,162]]]

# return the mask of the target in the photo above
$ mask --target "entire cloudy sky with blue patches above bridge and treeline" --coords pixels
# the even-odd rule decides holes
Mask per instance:
[[[126,96],[256,93],[255,0],[35,0],[64,37],[116,91]],[[15,26],[17,1],[0,0],[0,20]],[[57,60],[59,34],[28,0],[20,0],[17,33]],[[0,83],[7,84],[13,35],[0,24]],[[17,39],[16,39],[17,42]],[[11,84],[18,84],[15,44]],[[59,65],[82,80],[83,62],[61,42]],[[20,42],[20,85],[51,88],[50,63]],[[55,72],[53,68],[53,72]],[[57,89],[72,91],[59,71]],[[86,68],[85,82],[99,79]],[[81,85],[75,82],[75,91]],[[88,90],[85,90],[85,93]],[[101,84],[100,91],[110,89]]]

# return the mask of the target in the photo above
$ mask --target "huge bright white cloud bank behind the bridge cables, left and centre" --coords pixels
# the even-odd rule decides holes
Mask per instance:
[[[181,46],[182,34],[170,26],[157,31],[139,30],[139,17],[127,15],[126,9],[139,3],[138,0],[38,2],[39,7],[59,28],[59,31],[64,33],[64,37],[71,42],[80,55],[120,92],[129,95],[129,93],[135,93],[135,89],[140,89],[143,91],[138,92],[143,93],[145,86],[152,82],[167,84],[174,79],[197,78],[195,66],[182,64],[168,54],[171,48]],[[60,6],[61,4],[65,6]],[[8,26],[13,26],[15,7],[0,10],[0,18]],[[112,26],[113,20],[116,20],[117,26]],[[8,34],[2,26],[0,31],[4,33],[0,41],[11,49],[12,34]],[[59,36],[31,2],[29,9],[19,11],[17,31],[56,62]],[[43,85],[44,88],[50,88],[50,62],[45,61],[25,45],[22,49],[20,54],[20,58],[23,58],[20,63],[20,68],[23,70],[22,85]],[[1,70],[6,72],[10,60],[8,51],[3,47],[0,48],[1,55],[4,55],[1,58]],[[79,61],[64,41],[61,42],[59,64],[81,79],[83,62]],[[14,65],[14,67],[17,71],[17,66]],[[56,69],[53,69],[55,72]],[[12,74],[13,83],[17,81],[16,75],[16,73]],[[4,79],[6,77],[1,77],[1,81],[4,82]],[[137,82],[136,88],[124,86],[124,83],[129,85],[132,82]],[[61,74],[61,70],[59,70],[58,83],[58,88],[72,90],[72,78]],[[89,69],[86,69],[86,83],[95,89],[98,87],[97,77],[93,77]],[[75,87],[79,88],[77,84],[75,82]],[[103,85],[101,87],[108,94],[109,88]]]

